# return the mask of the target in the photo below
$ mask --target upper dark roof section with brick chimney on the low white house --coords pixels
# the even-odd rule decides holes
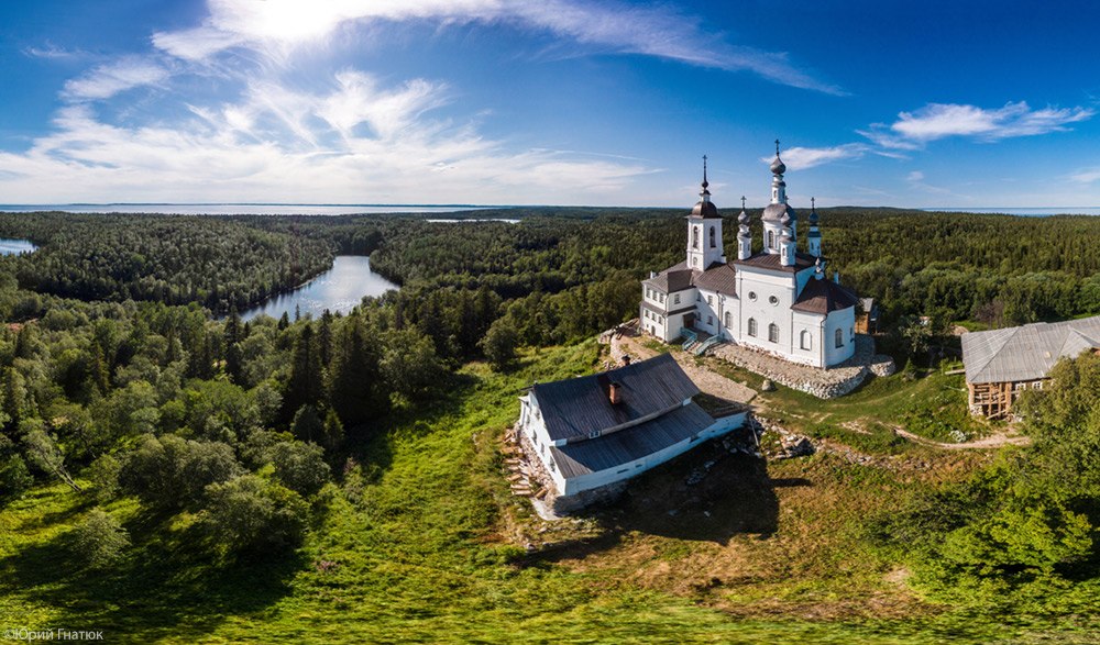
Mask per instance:
[[[608,387],[617,382],[622,401],[613,405]],[[531,388],[551,440],[586,437],[683,403],[698,393],[671,354],[661,354],[603,374]]]

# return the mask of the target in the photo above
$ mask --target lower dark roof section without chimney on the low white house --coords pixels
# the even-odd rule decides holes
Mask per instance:
[[[626,430],[598,438],[551,446],[553,460],[566,478],[598,472],[652,455],[695,436],[714,419],[695,403],[689,403]]]

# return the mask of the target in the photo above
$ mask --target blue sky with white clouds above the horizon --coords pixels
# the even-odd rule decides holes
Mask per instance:
[[[721,7],[718,5],[721,4]],[[0,203],[1100,205],[1087,2],[35,0]]]

